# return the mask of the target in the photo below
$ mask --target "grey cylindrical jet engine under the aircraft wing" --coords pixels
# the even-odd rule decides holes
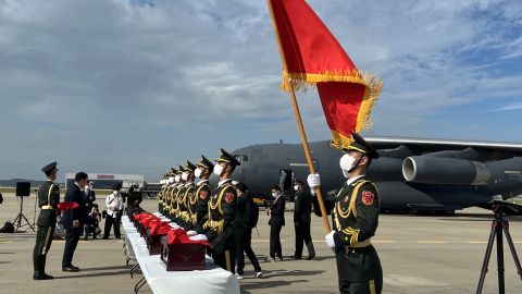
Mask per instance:
[[[425,184],[485,185],[492,172],[483,162],[431,156],[412,156],[402,162],[406,181]]]

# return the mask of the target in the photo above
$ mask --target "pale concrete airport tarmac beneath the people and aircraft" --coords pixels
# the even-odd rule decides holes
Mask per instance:
[[[63,193],[63,192],[62,192]],[[103,195],[97,195],[102,206]],[[146,200],[149,211],[156,200]],[[24,213],[33,221],[35,197],[24,203]],[[17,200],[4,194],[0,205],[0,222],[12,221],[18,213]],[[384,270],[383,293],[474,293],[489,235],[493,213],[478,208],[458,211],[455,217],[381,215],[373,244]],[[510,231],[522,255],[522,218],[510,217]],[[293,212],[287,211],[287,225],[282,231],[283,255],[294,254]],[[261,262],[264,279],[251,278],[247,261],[243,293],[338,293],[335,257],[324,243],[320,218],[313,218],[312,237],[318,256],[314,260]],[[268,217],[261,211],[259,236],[253,231],[252,245],[260,259],[269,253]],[[61,258],[64,241],[54,241],[47,272],[51,281],[33,281],[32,252],[35,233],[0,234],[0,293],[132,293],[138,277],[130,279],[123,256],[122,241],[80,241],[73,264],[82,271],[64,273]],[[303,256],[307,255],[304,249]],[[505,244],[506,292],[520,293],[522,281]],[[496,253],[486,277],[484,293],[497,291]],[[144,286],[140,293],[151,293]]]

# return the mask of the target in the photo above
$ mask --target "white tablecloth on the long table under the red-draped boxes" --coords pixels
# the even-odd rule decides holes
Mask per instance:
[[[232,272],[214,266],[207,256],[206,270],[166,271],[159,255],[149,255],[145,240],[136,232],[128,217],[122,217],[125,242],[132,248],[139,268],[153,293],[240,293],[239,283]]]

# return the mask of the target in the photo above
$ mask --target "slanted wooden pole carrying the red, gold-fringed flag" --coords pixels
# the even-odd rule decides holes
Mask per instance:
[[[277,40],[277,47],[279,49],[279,54],[281,54],[281,61],[283,63],[283,69],[284,72],[286,73],[286,60],[285,60],[285,54],[283,52],[283,49],[281,47],[281,40],[279,40],[279,35],[277,34],[277,25],[275,23],[274,19],[274,12],[272,8],[272,0],[266,0],[269,4],[269,10],[270,10],[270,15],[272,17],[272,25],[274,26],[274,33],[275,33],[275,39]],[[287,78],[290,78],[289,76]],[[313,166],[312,161],[312,155],[310,152],[310,146],[308,145],[308,138],[307,138],[307,133],[304,132],[304,126],[302,125],[302,119],[301,119],[301,112],[299,111],[299,106],[297,103],[297,98],[296,98],[296,93],[294,90],[294,85],[291,84],[291,81],[285,81],[285,84],[289,85],[289,95],[290,95],[290,101],[291,106],[294,109],[294,114],[296,117],[296,122],[297,122],[297,128],[299,130],[299,135],[301,137],[301,143],[302,143],[302,148],[304,149],[304,155],[307,157],[307,163],[310,169],[310,173],[315,174],[315,166]],[[318,203],[319,207],[321,209],[321,216],[323,218],[323,224],[324,224],[324,230],[326,230],[326,233],[332,232],[332,228],[330,226],[330,221],[328,221],[328,216],[326,215],[326,208],[324,206],[324,200],[323,200],[323,195],[321,193],[321,187],[318,186],[314,188],[315,196],[318,197]]]

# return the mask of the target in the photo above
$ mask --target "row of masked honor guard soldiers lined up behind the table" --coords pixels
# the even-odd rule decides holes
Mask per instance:
[[[192,240],[209,241],[214,264],[234,272],[233,222],[237,205],[237,192],[232,183],[232,173],[240,166],[234,156],[221,149],[214,166],[204,156],[194,164],[171,169],[161,180],[159,211],[187,230]],[[209,184],[211,173],[219,176],[215,188]],[[199,182],[195,183],[195,179]]]

